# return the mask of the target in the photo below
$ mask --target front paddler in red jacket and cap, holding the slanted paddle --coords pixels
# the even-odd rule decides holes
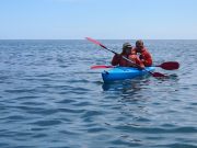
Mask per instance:
[[[139,65],[138,68],[140,69],[144,68],[143,62],[139,59],[139,57],[136,54],[136,50],[132,48],[132,46],[129,43],[123,44],[121,54],[115,54],[115,56],[112,59],[112,65],[121,66],[121,67],[136,67],[136,65],[134,65],[132,62],[124,59],[123,56],[130,59],[134,64]]]

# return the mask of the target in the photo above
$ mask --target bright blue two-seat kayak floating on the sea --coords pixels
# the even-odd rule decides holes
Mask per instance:
[[[103,71],[102,78],[104,82],[134,79],[139,76],[149,75],[148,71],[154,71],[154,69],[155,67],[146,67],[146,70],[140,70],[134,67],[115,67],[107,71]]]

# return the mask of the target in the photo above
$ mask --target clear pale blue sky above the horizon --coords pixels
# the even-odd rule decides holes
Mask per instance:
[[[0,39],[197,39],[197,0],[0,0]]]

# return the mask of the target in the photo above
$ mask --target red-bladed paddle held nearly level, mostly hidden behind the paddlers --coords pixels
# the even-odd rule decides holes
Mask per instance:
[[[153,66],[153,67],[160,67],[165,70],[175,70],[179,68],[179,64],[177,61],[165,61],[161,65]],[[101,69],[101,68],[114,68],[114,66],[104,66],[104,65],[99,65],[99,66],[92,66],[91,69]]]

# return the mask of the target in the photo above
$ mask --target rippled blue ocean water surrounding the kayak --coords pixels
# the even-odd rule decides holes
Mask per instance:
[[[0,41],[0,148],[197,147],[197,41],[144,44],[181,68],[105,84],[90,67],[113,55],[88,41]]]

